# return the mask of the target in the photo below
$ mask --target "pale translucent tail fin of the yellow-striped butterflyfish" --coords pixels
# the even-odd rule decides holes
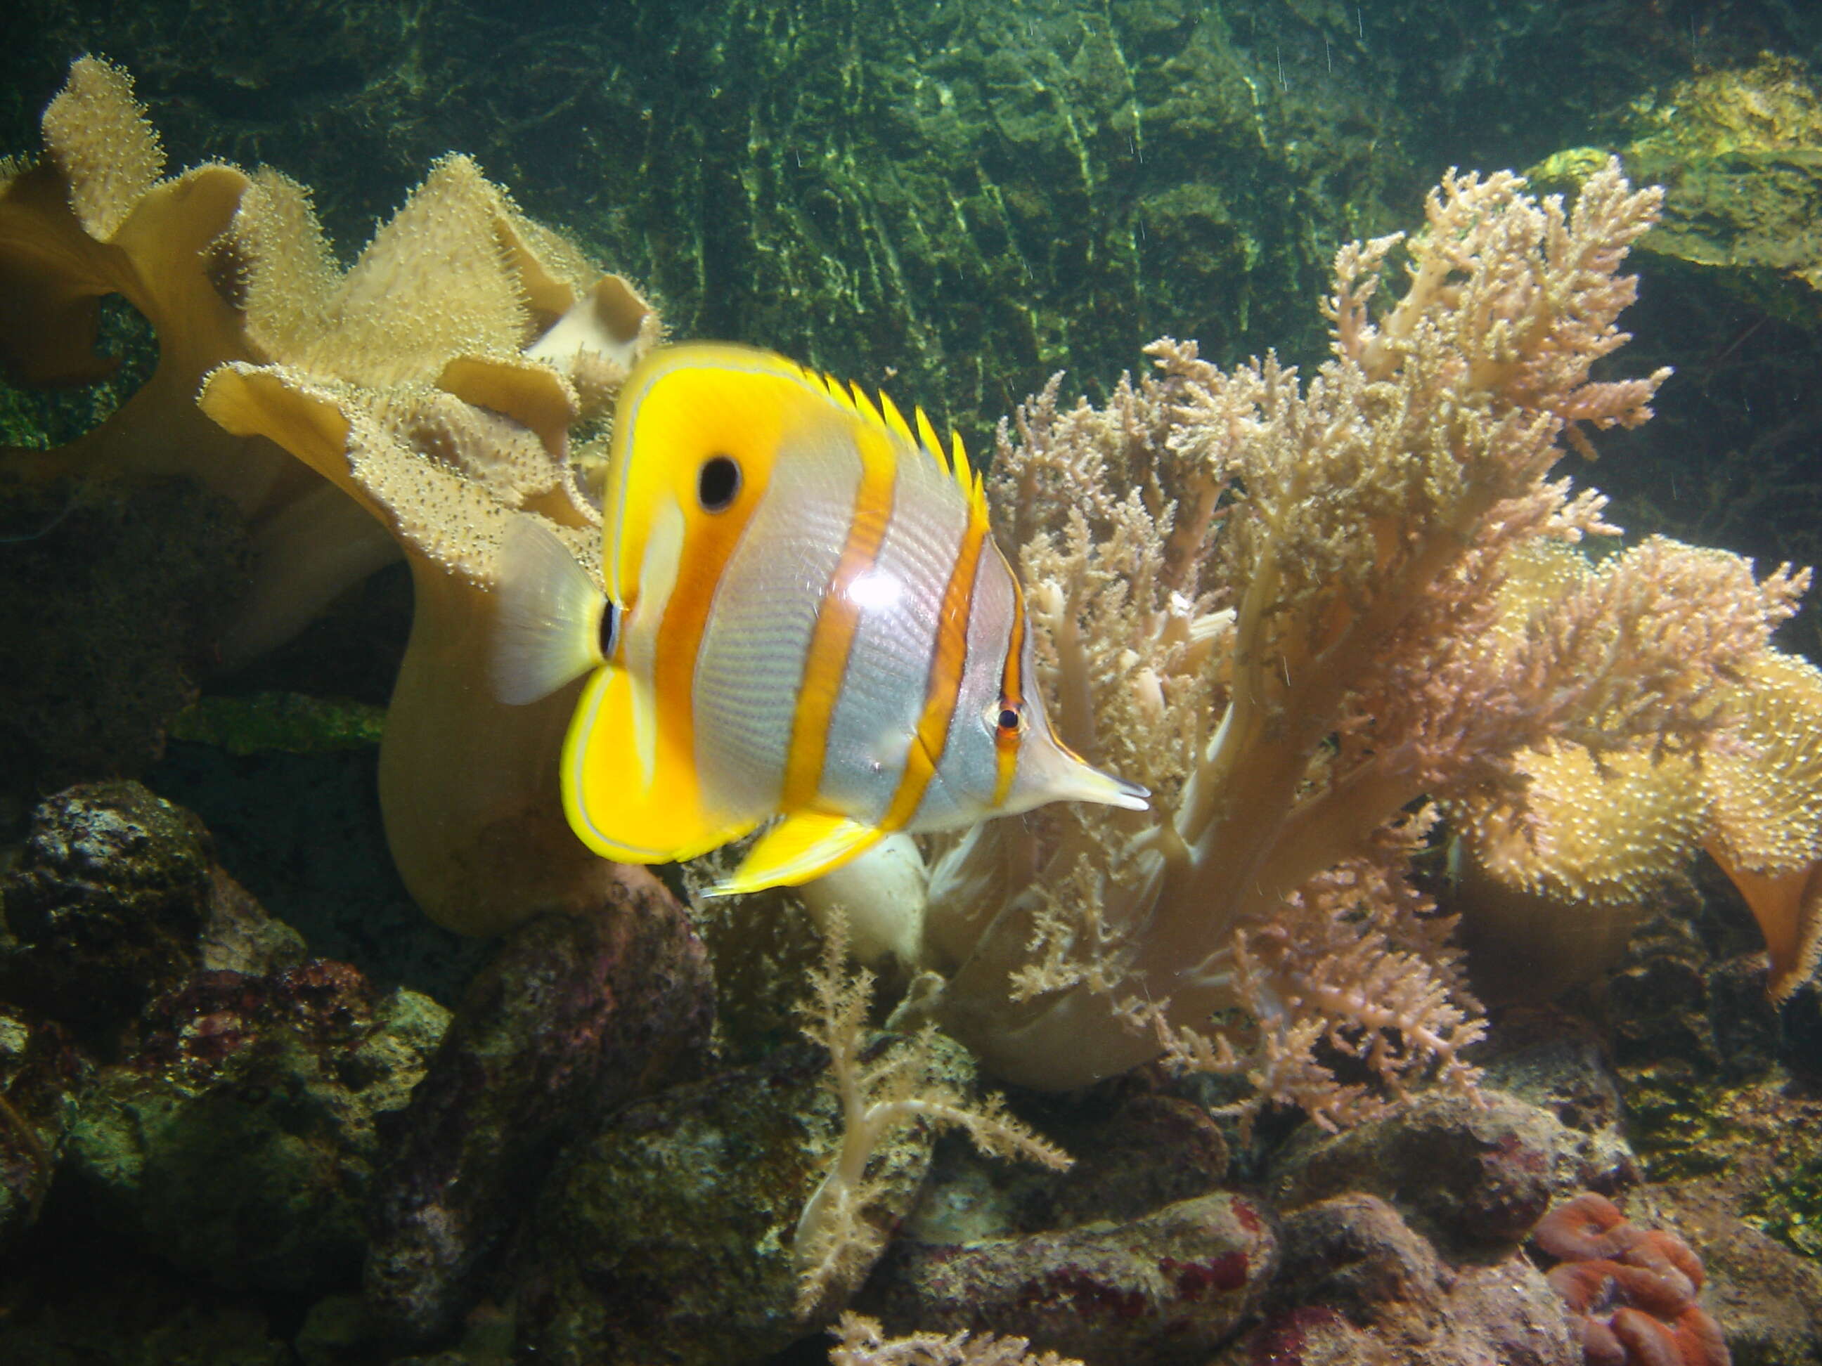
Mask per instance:
[[[605,661],[607,596],[543,517],[514,517],[499,546],[490,676],[512,707],[548,698]]]

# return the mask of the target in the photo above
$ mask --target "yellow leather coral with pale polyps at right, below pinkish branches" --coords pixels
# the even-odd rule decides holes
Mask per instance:
[[[1571,586],[1598,574],[1565,563]],[[1745,572],[1731,556],[1716,563]],[[1514,617],[1563,586],[1561,576],[1549,590],[1516,577],[1525,592],[1509,583],[1507,597],[1525,607]],[[1780,572],[1767,586],[1802,583]],[[1680,745],[1596,756],[1565,741],[1514,763],[1523,789],[1485,790],[1452,812],[1463,929],[1483,958],[1523,962],[1512,991],[1551,994],[1611,967],[1654,894],[1704,849],[1766,938],[1767,994],[1784,1000],[1809,978],[1822,954],[1822,670],[1807,659],[1747,654]],[[1507,991],[1496,973],[1489,982]]]

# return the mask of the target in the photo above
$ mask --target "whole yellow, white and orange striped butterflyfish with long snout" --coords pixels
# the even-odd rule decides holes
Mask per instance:
[[[496,688],[589,676],[561,787],[605,858],[694,858],[778,818],[711,889],[749,892],[893,831],[1144,809],[1051,734],[980,475],[922,410],[769,352],[663,348],[619,393],[601,519],[605,592],[516,521]]]

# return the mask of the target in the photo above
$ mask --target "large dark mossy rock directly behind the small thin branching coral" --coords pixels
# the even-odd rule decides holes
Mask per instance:
[[[971,1082],[967,1055],[940,1047]],[[517,1259],[521,1353],[732,1366],[814,1331],[796,1308],[791,1235],[838,1138],[825,1065],[822,1049],[782,1047],[640,1100],[567,1153]],[[929,1149],[911,1129],[875,1155],[887,1189],[871,1208],[878,1224],[904,1218]]]

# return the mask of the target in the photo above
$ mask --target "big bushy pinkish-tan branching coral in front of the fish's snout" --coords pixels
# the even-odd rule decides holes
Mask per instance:
[[[1312,375],[1159,342],[1104,410],[1053,382],[1004,428],[1051,714],[1153,809],[997,821],[933,867],[935,1009],[991,1069],[1068,1087],[1166,1053],[1323,1122],[1472,1086],[1450,923],[1408,880],[1423,800],[1523,803],[1523,756],[1561,743],[1689,750],[1804,586],[1651,541],[1510,625],[1516,554],[1612,532],[1549,475],[1651,413],[1662,372],[1589,368],[1625,341],[1618,268],[1658,204],[1618,166],[1572,209],[1450,175],[1390,308],[1397,239],[1339,251]]]

